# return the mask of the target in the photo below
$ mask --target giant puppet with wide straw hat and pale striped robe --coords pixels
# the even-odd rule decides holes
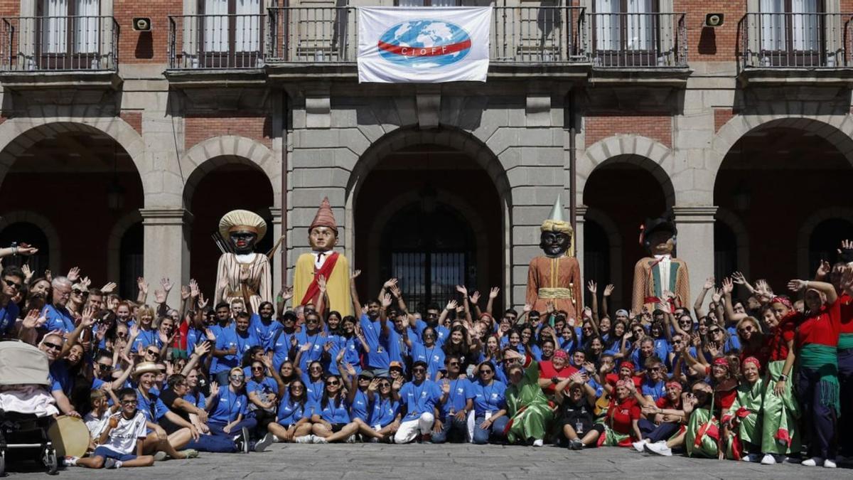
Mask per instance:
[[[239,298],[252,313],[258,313],[261,302],[270,301],[270,259],[254,251],[266,229],[264,219],[248,210],[232,210],[219,220],[219,234],[231,243],[233,253],[219,257],[214,305]]]

